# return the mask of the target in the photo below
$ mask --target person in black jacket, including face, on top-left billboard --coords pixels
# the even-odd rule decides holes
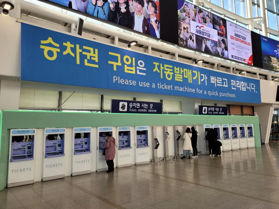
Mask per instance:
[[[117,0],[109,4],[108,19],[118,25],[133,29],[134,19],[129,9],[129,0]]]

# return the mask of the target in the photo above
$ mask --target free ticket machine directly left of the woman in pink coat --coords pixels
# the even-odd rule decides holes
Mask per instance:
[[[91,173],[91,128],[73,128],[72,176]]]

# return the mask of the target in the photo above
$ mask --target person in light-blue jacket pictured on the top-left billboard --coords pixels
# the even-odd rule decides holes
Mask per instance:
[[[87,13],[103,20],[109,20],[109,8],[108,0],[89,0]]]

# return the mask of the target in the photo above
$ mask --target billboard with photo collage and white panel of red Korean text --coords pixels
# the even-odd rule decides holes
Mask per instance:
[[[245,30],[189,2],[178,0],[179,45],[252,65],[251,34]],[[232,38],[235,33],[237,37]]]

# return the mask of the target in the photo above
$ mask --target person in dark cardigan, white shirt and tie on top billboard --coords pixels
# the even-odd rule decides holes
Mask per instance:
[[[134,0],[136,12],[132,12],[133,15],[133,28],[135,31],[150,35],[150,25],[148,20],[143,15],[144,1]]]

